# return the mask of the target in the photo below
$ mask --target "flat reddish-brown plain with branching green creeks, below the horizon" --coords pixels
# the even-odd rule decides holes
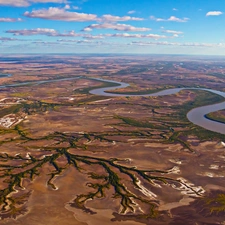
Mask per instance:
[[[89,93],[225,91],[224,58],[2,56],[0,73],[1,224],[225,224],[224,135],[186,118],[224,98]]]

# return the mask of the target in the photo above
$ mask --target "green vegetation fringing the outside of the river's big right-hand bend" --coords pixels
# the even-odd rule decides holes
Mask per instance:
[[[176,111],[172,115],[166,113],[160,113],[159,116],[154,116],[158,110],[162,110],[167,107],[160,106],[148,106],[152,108],[153,117],[146,120],[137,120],[131,117],[115,116],[115,118],[121,119],[126,125],[138,128],[148,128],[147,135],[154,139],[152,132],[159,131],[157,139],[161,138],[164,143],[180,143],[185,149],[194,152],[192,146],[188,141],[189,136],[195,136],[200,141],[216,140],[221,141],[224,138],[223,134],[215,133],[209,130],[205,130],[199,126],[196,126],[188,121],[186,114],[195,107],[209,105],[212,103],[223,101],[224,98],[213,93],[205,91],[194,90],[197,92],[197,97],[194,100],[188,101],[182,106],[170,106],[170,109]],[[178,129],[177,129],[178,128]],[[146,130],[140,132],[141,136],[146,135]]]

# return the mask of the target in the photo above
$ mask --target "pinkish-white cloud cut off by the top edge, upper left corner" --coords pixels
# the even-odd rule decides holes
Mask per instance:
[[[67,0],[0,0],[0,5],[25,7],[32,3],[66,3]]]

